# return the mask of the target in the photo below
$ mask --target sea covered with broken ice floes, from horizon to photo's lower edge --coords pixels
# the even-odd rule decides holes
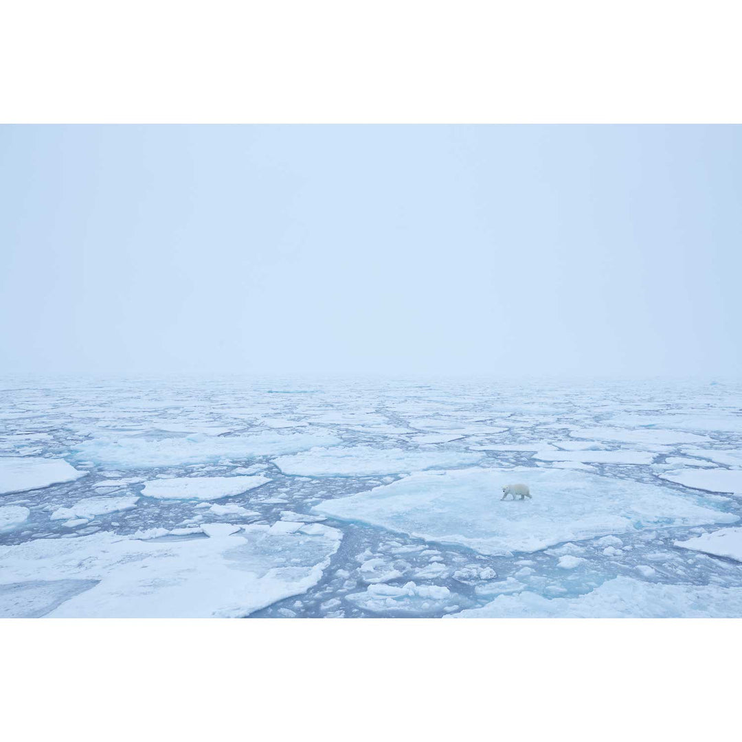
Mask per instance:
[[[0,378],[0,617],[742,617],[741,408],[724,382]]]

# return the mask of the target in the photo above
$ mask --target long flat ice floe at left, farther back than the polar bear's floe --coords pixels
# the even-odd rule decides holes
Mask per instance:
[[[73,447],[81,460],[118,467],[157,467],[200,464],[219,459],[250,459],[294,453],[315,446],[332,446],[340,439],[329,433],[256,433],[249,436],[133,438],[96,436]]]

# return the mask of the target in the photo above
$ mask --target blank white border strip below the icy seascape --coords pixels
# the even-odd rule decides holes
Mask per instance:
[[[732,738],[739,628],[5,620],[1,725],[8,740]]]

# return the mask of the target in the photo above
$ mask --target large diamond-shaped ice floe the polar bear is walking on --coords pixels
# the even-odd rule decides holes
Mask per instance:
[[[533,499],[501,501],[513,478]],[[316,505],[314,511],[367,522],[482,554],[539,551],[565,541],[705,523],[738,516],[698,505],[664,487],[573,470],[465,469],[416,473],[390,485]]]

